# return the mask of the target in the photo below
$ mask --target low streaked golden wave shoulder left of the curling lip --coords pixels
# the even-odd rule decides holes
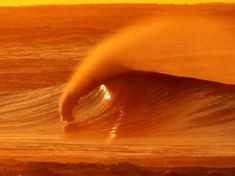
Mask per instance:
[[[56,131],[56,102],[64,85],[0,95],[1,131]]]

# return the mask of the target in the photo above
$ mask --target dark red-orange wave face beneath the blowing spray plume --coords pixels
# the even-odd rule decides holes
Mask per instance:
[[[235,86],[130,72],[78,101],[65,130],[78,136],[136,138],[234,136]]]

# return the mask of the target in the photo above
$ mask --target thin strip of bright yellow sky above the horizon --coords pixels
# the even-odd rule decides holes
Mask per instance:
[[[235,0],[0,0],[0,6],[30,6],[44,4],[97,4],[97,3],[167,3],[194,4],[209,2],[228,2]]]

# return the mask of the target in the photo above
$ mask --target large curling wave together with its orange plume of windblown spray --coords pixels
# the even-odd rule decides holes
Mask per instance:
[[[61,96],[65,130],[109,138],[234,134],[234,27],[209,14],[158,17],[101,42]]]

